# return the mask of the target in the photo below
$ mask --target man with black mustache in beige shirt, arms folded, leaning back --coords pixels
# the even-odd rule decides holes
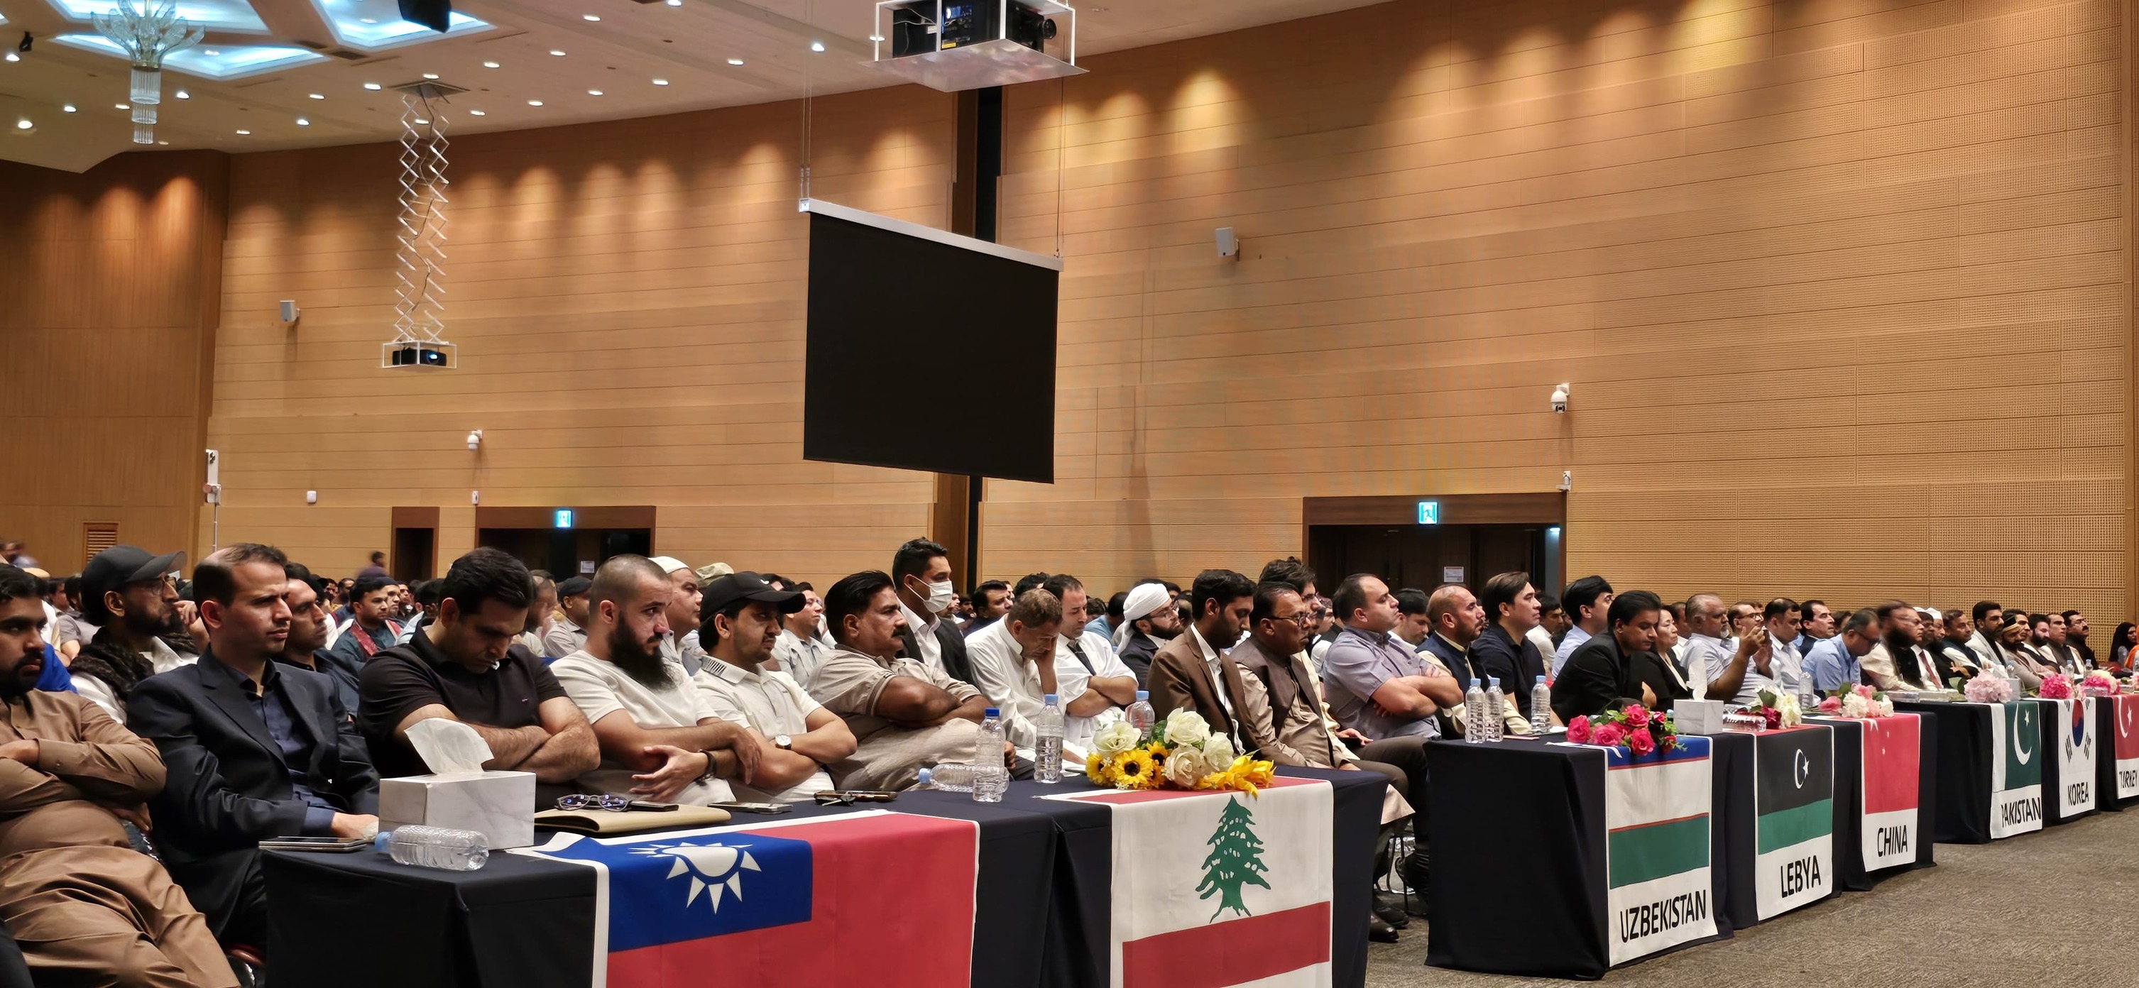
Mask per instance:
[[[809,693],[847,721],[858,744],[830,766],[834,785],[905,789],[922,768],[978,757],[973,744],[988,697],[898,652],[898,629],[907,624],[890,573],[853,573],[832,584],[824,618],[838,650],[811,676]]]

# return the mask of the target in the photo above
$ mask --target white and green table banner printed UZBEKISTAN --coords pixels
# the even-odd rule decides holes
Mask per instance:
[[[1679,738],[1677,748],[1641,757],[1611,746],[1604,757],[1611,962],[1715,937],[1709,740]]]

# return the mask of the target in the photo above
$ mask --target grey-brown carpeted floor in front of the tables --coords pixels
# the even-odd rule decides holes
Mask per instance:
[[[1844,892],[1735,939],[1611,971],[1643,988],[2139,986],[2139,808],[1989,845],[1938,845],[1936,868]],[[1367,986],[1568,984],[1427,964],[1427,922],[1373,943]]]

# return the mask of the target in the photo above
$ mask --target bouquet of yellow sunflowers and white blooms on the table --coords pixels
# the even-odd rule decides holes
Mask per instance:
[[[1256,796],[1271,785],[1273,768],[1232,751],[1232,738],[1213,734],[1202,714],[1174,710],[1138,731],[1129,721],[1099,727],[1084,755],[1084,778],[1114,789],[1238,789]]]

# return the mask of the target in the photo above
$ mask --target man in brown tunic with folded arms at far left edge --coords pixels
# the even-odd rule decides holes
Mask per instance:
[[[207,922],[120,821],[148,825],[156,746],[98,704],[34,689],[36,577],[0,567],[0,915],[34,984],[235,986]]]

